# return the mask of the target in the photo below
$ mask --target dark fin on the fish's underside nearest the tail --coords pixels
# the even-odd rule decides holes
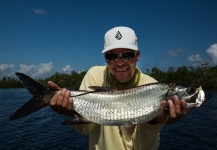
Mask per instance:
[[[79,115],[78,113],[74,111],[73,115],[68,117],[62,124],[63,125],[79,125],[79,124],[89,124],[89,123],[92,123],[92,122],[88,121],[87,119],[85,119],[84,117],[82,117],[81,115]]]

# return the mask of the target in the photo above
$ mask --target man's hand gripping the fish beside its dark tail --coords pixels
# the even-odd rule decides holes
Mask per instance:
[[[50,107],[62,115],[70,115],[73,110],[73,99],[70,97],[70,91],[60,88],[52,81],[48,81],[48,86],[55,91],[58,91],[50,100]]]

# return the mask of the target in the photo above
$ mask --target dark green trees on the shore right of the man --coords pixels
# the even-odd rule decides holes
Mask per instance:
[[[205,89],[217,89],[217,66],[170,67],[167,72],[154,67],[146,70],[148,74],[160,82],[177,83],[185,86],[201,85]]]

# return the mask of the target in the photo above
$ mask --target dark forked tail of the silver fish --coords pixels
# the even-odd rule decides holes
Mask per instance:
[[[31,98],[21,108],[14,112],[10,116],[9,120],[22,118],[49,105],[48,99],[53,95],[53,91],[51,91],[48,87],[30,78],[29,76],[18,72],[16,75],[22,84],[25,85],[28,91],[32,94],[33,98]],[[46,95],[48,95],[48,97]]]

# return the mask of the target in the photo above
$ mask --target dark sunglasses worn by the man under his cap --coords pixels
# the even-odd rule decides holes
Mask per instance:
[[[136,57],[136,54],[137,52],[135,51],[121,52],[121,53],[106,53],[104,57],[107,61],[111,61],[111,62],[117,61],[119,56],[123,61],[128,61],[134,59]]]

